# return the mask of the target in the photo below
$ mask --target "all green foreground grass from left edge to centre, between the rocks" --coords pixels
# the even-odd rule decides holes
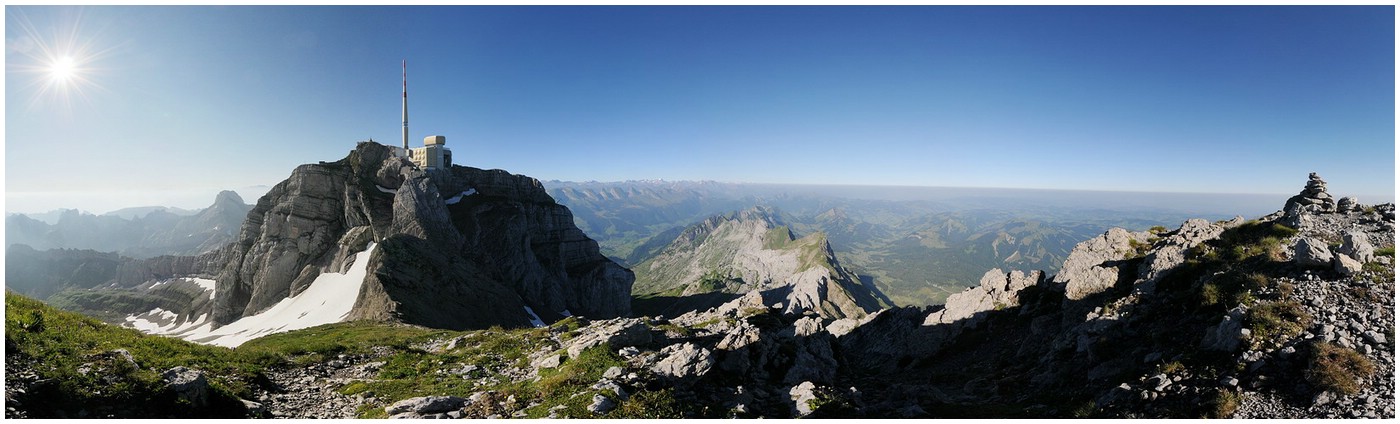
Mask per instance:
[[[116,417],[241,417],[238,399],[253,397],[253,386],[265,381],[270,369],[322,362],[342,353],[367,354],[384,348],[391,353],[382,358],[386,364],[375,379],[340,388],[347,395],[372,392],[382,399],[363,406],[363,417],[382,417],[384,406],[407,397],[466,397],[483,390],[497,390],[503,399],[514,395],[521,407],[539,402],[528,410],[531,417],[545,417],[556,404],[564,404],[561,413],[570,417],[599,417],[587,407],[594,393],[605,392],[589,386],[609,367],[623,365],[622,358],[606,348],[588,350],[559,368],[545,369],[538,382],[517,382],[507,374],[528,368],[531,353],[561,348],[554,341],[554,333],[567,340],[577,329],[574,319],[547,329],[493,327],[473,332],[347,322],[272,334],[238,348],[224,348],[150,336],[6,294],[7,364],[27,364],[22,368],[38,372],[41,381],[49,381],[38,385],[22,402],[32,417],[53,417],[57,410],[71,413],[74,407],[88,409],[99,417],[105,413]],[[465,337],[465,343],[442,353],[423,350],[430,341],[454,337]],[[125,367],[123,361],[104,354],[116,348],[130,351],[139,368]],[[84,374],[78,371],[84,364],[95,364],[101,371]],[[479,376],[496,376],[498,382],[475,386],[473,379],[444,372],[465,364],[480,367],[476,371]],[[160,372],[176,365],[207,374],[214,404],[195,410],[178,403],[162,388]],[[14,368],[7,372],[14,372]],[[602,417],[680,417],[683,410],[666,392],[636,393],[627,400],[615,400],[620,406]],[[123,409],[129,406],[139,406],[139,410]]]

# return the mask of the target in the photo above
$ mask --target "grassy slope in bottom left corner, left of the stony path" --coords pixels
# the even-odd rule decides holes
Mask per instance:
[[[106,354],[118,348],[127,350],[137,368]],[[139,417],[238,417],[238,397],[248,397],[279,358],[153,337],[6,292],[6,362],[38,374],[41,383],[24,402],[35,417],[76,407],[122,414],[133,404],[140,409],[129,413]],[[207,372],[214,392],[209,409],[179,406],[162,389],[160,374],[176,365]]]

